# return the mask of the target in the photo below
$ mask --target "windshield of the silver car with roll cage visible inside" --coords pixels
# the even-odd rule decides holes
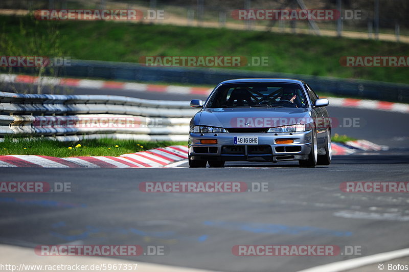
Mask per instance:
[[[290,107],[305,108],[301,86],[291,83],[240,83],[221,85],[210,97],[207,108]]]

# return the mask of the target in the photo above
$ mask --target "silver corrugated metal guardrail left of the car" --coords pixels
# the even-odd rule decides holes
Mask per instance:
[[[20,134],[59,141],[186,141],[189,121],[196,111],[189,101],[0,92],[0,138]]]

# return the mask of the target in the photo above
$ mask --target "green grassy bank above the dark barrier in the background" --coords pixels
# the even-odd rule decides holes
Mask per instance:
[[[26,35],[20,34],[20,20]],[[74,59],[139,62],[142,56],[157,55],[268,56],[268,66],[235,69],[409,83],[406,67],[344,67],[338,62],[348,55],[409,55],[405,43],[113,21],[33,22],[29,17],[0,16],[2,32],[15,48],[27,48],[27,35],[47,35],[54,25],[58,25],[61,51]],[[7,55],[6,48],[0,51]]]

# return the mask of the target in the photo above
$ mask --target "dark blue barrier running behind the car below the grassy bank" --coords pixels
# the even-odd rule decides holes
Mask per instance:
[[[16,69],[15,72],[27,73],[29,71]],[[215,68],[197,69],[192,67],[147,67],[137,63],[71,60],[71,66],[59,67],[53,75],[56,77],[89,77],[145,82],[180,82],[212,85],[216,85],[223,80],[234,78],[297,78],[307,82],[317,92],[383,101],[409,102],[408,84],[278,72],[254,72]]]

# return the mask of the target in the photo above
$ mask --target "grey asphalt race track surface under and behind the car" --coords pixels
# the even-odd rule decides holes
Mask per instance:
[[[75,94],[97,94],[74,89]],[[94,92],[94,93],[93,93]],[[98,94],[113,94],[98,90]],[[191,96],[115,93],[147,99]],[[194,96],[194,98],[200,98]],[[407,182],[408,115],[328,107],[333,118],[359,118],[335,127],[388,151],[335,156],[330,166],[226,163],[225,168],[41,169],[3,168],[0,182],[71,183],[71,192],[0,195],[0,242],[165,245],[165,256],[124,257],[141,262],[219,271],[297,271],[409,247],[407,193],[344,193],[343,182]],[[263,182],[271,192],[144,193],[142,182]],[[354,256],[234,256],[243,244],[360,246]],[[46,257],[44,257],[46,258]],[[51,258],[51,257],[50,257]]]

